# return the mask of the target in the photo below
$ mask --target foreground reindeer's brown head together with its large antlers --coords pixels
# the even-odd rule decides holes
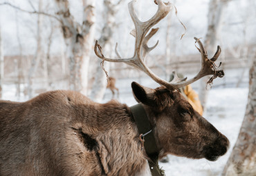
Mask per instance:
[[[172,82],[161,79],[145,65],[146,56],[157,46],[158,42],[152,48],[147,46],[147,42],[158,31],[158,28],[154,29],[152,26],[166,17],[170,12],[171,4],[156,0],[158,4],[156,14],[148,21],[142,22],[136,17],[134,3],[135,1],[129,3],[131,19],[136,27],[136,30],[131,32],[131,35],[136,38],[134,57],[122,59],[117,50],[116,55],[119,59],[104,57],[97,41],[94,48],[95,54],[104,61],[125,62],[139,68],[158,84],[161,84],[161,87],[156,89],[146,88],[135,82],[131,84],[134,96],[143,104],[151,123],[155,127],[154,135],[160,148],[160,157],[171,153],[190,158],[205,157],[214,161],[217,157],[226,153],[229,141],[212,124],[193,110],[192,106],[179,92],[179,88],[192,84],[206,75],[213,75],[209,82],[212,82],[216,77],[223,77],[223,70],[218,70],[214,64],[221,53],[221,48],[218,46],[214,57],[208,59],[203,44],[194,37],[196,42],[199,43],[198,49],[201,52],[201,70],[199,73],[188,81],[181,81],[177,77],[174,77]],[[149,32],[150,28],[152,30]],[[148,35],[147,32],[149,32]],[[101,53],[98,53],[97,48],[100,49]]]

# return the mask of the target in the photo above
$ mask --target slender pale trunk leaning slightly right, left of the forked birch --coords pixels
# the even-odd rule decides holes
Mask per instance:
[[[38,3],[38,11],[42,12],[43,1],[39,0]],[[33,97],[33,79],[35,77],[35,70],[37,70],[37,66],[42,57],[42,20],[43,15],[37,14],[37,50],[35,51],[35,55],[32,59],[30,69],[28,71],[28,98]]]

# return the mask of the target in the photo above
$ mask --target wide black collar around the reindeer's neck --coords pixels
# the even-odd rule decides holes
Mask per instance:
[[[130,107],[131,114],[134,117],[136,125],[138,127],[138,132],[140,135],[144,135],[145,151],[149,157],[149,168],[153,176],[164,175],[163,170],[158,166],[158,147],[156,145],[156,139],[154,137],[154,129],[150,123],[145,109],[142,104],[136,104]],[[148,134],[147,134],[148,133]],[[147,134],[147,135],[145,135]]]

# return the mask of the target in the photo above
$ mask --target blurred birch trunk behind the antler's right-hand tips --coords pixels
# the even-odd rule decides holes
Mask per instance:
[[[205,35],[204,46],[208,51],[208,55],[212,57],[217,48],[218,37],[221,32],[223,11],[225,10],[229,0],[210,0],[208,10],[208,30]],[[210,79],[209,76],[203,77],[200,80],[199,86],[199,99],[205,110],[206,102],[208,98],[208,90],[206,83]]]

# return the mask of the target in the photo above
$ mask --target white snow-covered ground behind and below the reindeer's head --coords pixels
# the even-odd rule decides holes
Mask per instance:
[[[237,72],[237,71],[235,71]],[[234,77],[234,72],[230,72]],[[237,74],[239,75],[239,73]],[[228,77],[228,74],[226,75]],[[247,77],[247,75],[246,75]],[[117,81],[117,87],[120,89],[120,97],[118,100],[129,106],[136,104],[131,94],[131,81],[137,81],[143,86],[156,88],[157,84],[152,84],[151,79],[122,79]],[[226,135],[230,140],[230,149],[223,157],[220,157],[216,162],[209,162],[206,159],[187,159],[184,157],[176,157],[169,155],[170,162],[167,164],[160,163],[160,166],[165,170],[165,174],[183,175],[183,176],[213,176],[220,175],[223,167],[226,164],[228,156],[235,144],[241,121],[244,118],[244,113],[247,104],[248,96],[248,80],[244,81],[239,88],[235,88],[235,82],[230,80],[224,86],[216,82],[215,86],[210,89],[208,97],[207,112],[203,115],[210,123],[212,123],[221,133]],[[196,84],[192,85],[196,88]],[[3,99],[12,101],[24,101],[25,98],[17,99],[15,97],[15,86],[3,86]],[[111,92],[107,90],[104,97],[104,102],[111,99]]]

